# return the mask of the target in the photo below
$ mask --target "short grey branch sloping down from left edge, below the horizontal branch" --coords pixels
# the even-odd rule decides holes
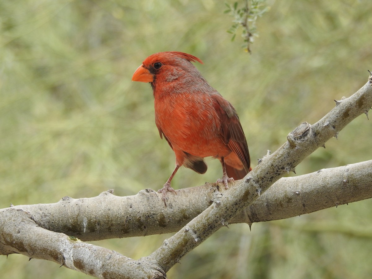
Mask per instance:
[[[156,266],[41,228],[32,215],[19,208],[1,211],[0,228],[1,254],[50,260],[97,278],[148,278],[149,274],[166,278]]]

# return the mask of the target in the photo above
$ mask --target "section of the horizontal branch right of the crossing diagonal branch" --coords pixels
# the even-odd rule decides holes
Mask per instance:
[[[285,219],[369,198],[372,160],[281,178],[231,222]]]

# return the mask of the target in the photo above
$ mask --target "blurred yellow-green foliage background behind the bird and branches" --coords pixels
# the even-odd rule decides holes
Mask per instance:
[[[154,124],[150,86],[132,83],[150,54],[183,51],[237,109],[253,166],[301,122],[318,121],[372,70],[372,1],[270,1],[249,55],[224,1],[0,2],[0,207],[159,189],[174,154]],[[242,4],[241,4],[242,5]],[[365,115],[303,161],[297,174],[371,159]],[[178,171],[176,188],[214,182]],[[293,174],[291,174],[293,175]],[[372,201],[275,222],[222,228],[169,278],[369,278]],[[360,236],[360,234],[363,236]],[[138,259],[169,235],[94,244]],[[90,278],[22,255],[3,278]]]

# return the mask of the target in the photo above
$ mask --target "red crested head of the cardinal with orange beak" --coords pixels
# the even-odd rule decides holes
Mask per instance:
[[[203,64],[199,58],[184,52],[158,52],[142,62],[134,72],[132,81],[150,82],[154,86],[154,83],[170,83],[185,75],[200,78],[201,74],[191,63],[196,61]]]

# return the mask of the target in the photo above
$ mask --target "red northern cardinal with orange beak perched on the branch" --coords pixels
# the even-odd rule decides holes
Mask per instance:
[[[149,82],[153,88],[155,124],[176,154],[173,173],[158,190],[174,191],[171,180],[180,166],[205,173],[204,157],[218,158],[223,176],[217,183],[242,179],[250,168],[247,140],[234,107],[211,87],[192,62],[203,62],[177,51],[147,57],[132,81]]]

